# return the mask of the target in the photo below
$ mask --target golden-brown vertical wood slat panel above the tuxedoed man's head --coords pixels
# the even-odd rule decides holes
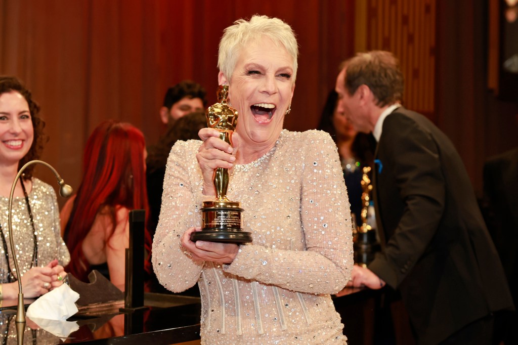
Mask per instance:
[[[405,77],[405,106],[428,117],[435,99],[436,0],[370,0],[367,10],[369,50],[390,50]]]

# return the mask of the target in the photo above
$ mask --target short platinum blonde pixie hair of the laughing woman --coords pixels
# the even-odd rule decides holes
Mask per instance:
[[[223,31],[218,53],[218,68],[228,79],[232,79],[234,68],[241,48],[245,47],[250,41],[257,41],[263,37],[268,37],[278,46],[284,46],[293,58],[293,76],[295,83],[297,76],[297,57],[298,44],[290,25],[278,18],[254,15],[247,21],[239,19],[234,25],[228,26]]]

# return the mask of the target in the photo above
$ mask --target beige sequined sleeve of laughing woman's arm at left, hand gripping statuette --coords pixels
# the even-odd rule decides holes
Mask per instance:
[[[199,226],[201,177],[196,152],[201,141],[178,141],[167,159],[159,224],[153,238],[153,269],[159,282],[172,292],[182,292],[196,284],[203,262],[195,262],[183,250],[180,237],[186,229]],[[195,182],[191,182],[194,180]]]

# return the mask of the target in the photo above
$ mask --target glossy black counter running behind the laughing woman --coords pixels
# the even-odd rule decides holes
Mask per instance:
[[[336,309],[342,316],[344,334],[349,338],[349,344],[380,343],[380,329],[386,331],[386,328],[390,328],[389,331],[394,333],[392,324],[380,328],[380,322],[384,322],[380,305],[385,293],[385,289],[346,288],[333,296]],[[79,312],[68,319],[77,322],[79,330],[71,333],[64,342],[160,345],[199,339],[199,297],[146,293],[144,300],[145,308],[130,311],[124,311],[123,300],[80,307]],[[3,301],[0,315],[13,314],[12,306],[15,302]],[[30,304],[32,300],[25,302]],[[47,345],[48,342],[39,342],[36,339],[33,344]]]

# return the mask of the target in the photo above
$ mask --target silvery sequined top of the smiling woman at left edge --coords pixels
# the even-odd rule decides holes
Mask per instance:
[[[57,258],[60,265],[65,266],[70,261],[70,254],[60,235],[59,207],[57,206],[56,193],[49,184],[37,178],[33,178],[32,182],[32,190],[27,191],[27,193],[34,218],[34,228],[37,233],[38,266],[46,266],[55,258]],[[9,265],[11,270],[15,272],[16,268],[12,261],[9,243],[8,210],[9,198],[0,197],[0,222],[9,253]],[[14,234],[13,240],[17,250],[18,266],[23,275],[32,266],[34,250],[33,229],[25,197],[13,199],[11,222]],[[6,255],[3,246],[0,245],[0,282],[6,283],[7,281]]]

